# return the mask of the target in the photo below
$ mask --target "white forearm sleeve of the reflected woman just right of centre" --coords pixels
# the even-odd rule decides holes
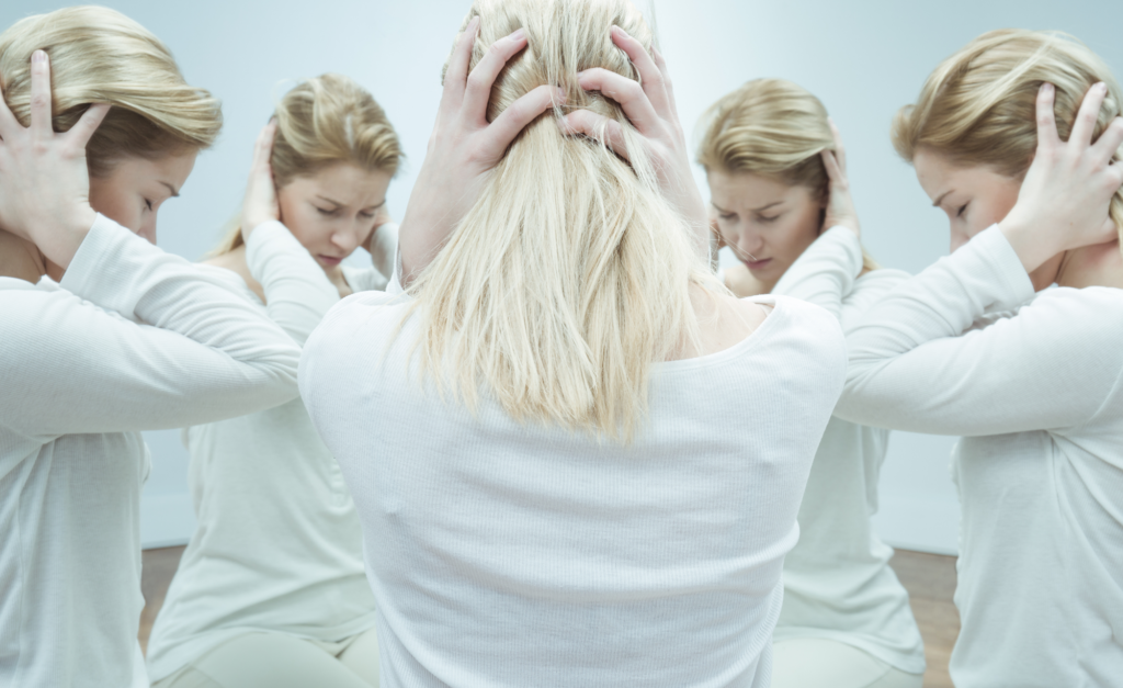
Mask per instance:
[[[810,301],[841,319],[842,301],[861,274],[861,243],[847,227],[832,227],[807,247],[772,292]]]

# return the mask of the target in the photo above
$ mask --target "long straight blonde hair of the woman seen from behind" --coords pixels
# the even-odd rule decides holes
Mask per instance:
[[[609,29],[648,49],[651,31],[627,0],[477,0],[464,26],[475,16],[472,65],[517,28],[529,42],[495,81],[490,120],[531,89],[558,84],[567,107],[621,125],[631,162],[565,136],[554,120],[560,107],[530,124],[410,287],[421,370],[442,393],[441,373],[451,371],[469,408],[483,388],[519,420],[627,441],[647,414],[651,363],[699,342],[691,284],[724,291],[621,108],[577,82],[594,66],[637,80]]]

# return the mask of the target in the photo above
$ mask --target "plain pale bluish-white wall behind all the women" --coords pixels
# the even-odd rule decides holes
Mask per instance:
[[[390,207],[401,214],[424,156],[440,67],[468,8],[459,0],[103,3],[164,39],[188,80],[225,103],[221,139],[199,159],[183,198],[167,203],[159,220],[161,245],[191,259],[237,210],[254,137],[286,79],[337,71],[371,89],[409,159],[390,189]],[[0,26],[57,7],[62,3],[4,0]],[[911,169],[894,155],[888,124],[941,58],[985,30],[1053,28],[1080,37],[1123,75],[1117,0],[656,0],[656,10],[685,126],[693,132],[710,103],[749,79],[780,76],[810,89],[846,138],[866,245],[883,264],[911,272],[947,252],[947,227]],[[185,454],[173,431],[148,438],[154,468],[145,489],[143,540],[183,542],[193,523]],[[956,551],[958,508],[947,470],[951,443],[894,436],[877,518],[889,542]]]

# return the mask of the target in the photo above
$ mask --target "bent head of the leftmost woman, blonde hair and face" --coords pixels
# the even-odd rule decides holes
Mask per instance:
[[[69,130],[90,103],[112,106],[86,145],[90,205],[148,241],[199,151],[222,126],[219,101],[184,82],[172,54],[143,26],[101,7],[27,17],[0,35],[0,85],[30,123],[31,53],[51,57],[54,128]]]

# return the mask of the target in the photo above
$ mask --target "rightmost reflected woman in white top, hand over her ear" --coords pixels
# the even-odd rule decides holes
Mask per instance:
[[[960,688],[1123,676],[1121,103],[1083,45],[995,31],[894,126],[953,253],[848,337],[837,414],[965,435]]]

